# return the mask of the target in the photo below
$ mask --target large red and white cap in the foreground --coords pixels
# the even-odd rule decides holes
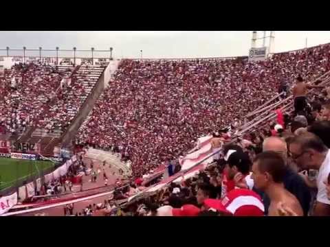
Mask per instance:
[[[250,189],[233,189],[223,200],[206,199],[204,204],[234,216],[263,216],[265,211],[260,196]]]

